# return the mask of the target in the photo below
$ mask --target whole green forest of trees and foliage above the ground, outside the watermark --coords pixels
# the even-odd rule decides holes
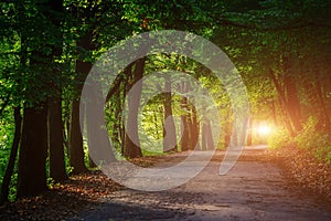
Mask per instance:
[[[299,148],[331,165],[330,1],[4,0],[0,11],[1,203],[96,170],[89,148],[99,145],[100,133],[126,160],[236,143],[226,85],[178,53],[145,54],[129,63],[108,85],[104,119],[81,124],[88,115],[79,109],[81,95],[94,64],[129,38],[162,30],[202,36],[233,62],[249,102],[246,146]],[[127,99],[140,80],[169,70],[173,77],[151,78],[137,99]],[[199,112],[211,104],[194,104],[193,80],[175,82],[183,74],[209,91],[218,136],[212,133],[216,116]],[[138,109],[141,90],[152,97]],[[158,90],[162,93],[153,94]]]

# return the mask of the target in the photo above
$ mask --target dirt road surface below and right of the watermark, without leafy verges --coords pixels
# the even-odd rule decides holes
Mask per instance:
[[[330,207],[289,188],[264,148],[246,149],[226,176],[220,157],[194,179],[161,192],[120,190],[73,220],[331,220]],[[175,158],[178,159],[178,158]]]

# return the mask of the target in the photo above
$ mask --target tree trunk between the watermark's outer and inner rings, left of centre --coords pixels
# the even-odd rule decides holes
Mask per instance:
[[[134,84],[142,78],[145,71],[146,57],[139,59],[135,64],[134,73]],[[126,136],[125,136],[125,151],[124,155],[129,158],[142,157],[139,135],[138,135],[138,108],[140,104],[140,96],[142,90],[142,83],[136,84],[136,93],[128,97],[128,118],[126,125]],[[128,133],[130,136],[128,136]],[[135,141],[134,141],[134,140]]]

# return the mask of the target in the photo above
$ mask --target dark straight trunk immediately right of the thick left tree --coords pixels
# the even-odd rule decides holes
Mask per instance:
[[[50,177],[55,181],[68,179],[64,161],[64,139],[62,122],[62,99],[49,99],[49,148],[50,148]]]

